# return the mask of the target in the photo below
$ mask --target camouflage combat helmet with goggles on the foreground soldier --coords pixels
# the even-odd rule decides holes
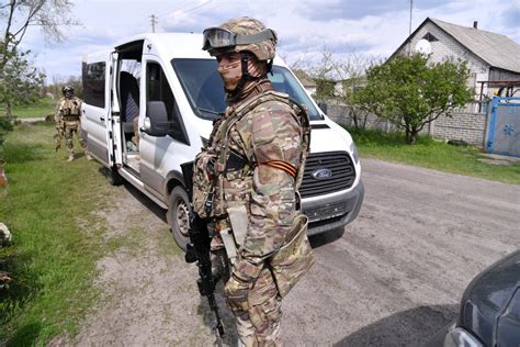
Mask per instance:
[[[228,52],[250,52],[259,60],[272,60],[276,53],[276,33],[249,16],[231,19],[204,30],[202,49],[212,56]]]

